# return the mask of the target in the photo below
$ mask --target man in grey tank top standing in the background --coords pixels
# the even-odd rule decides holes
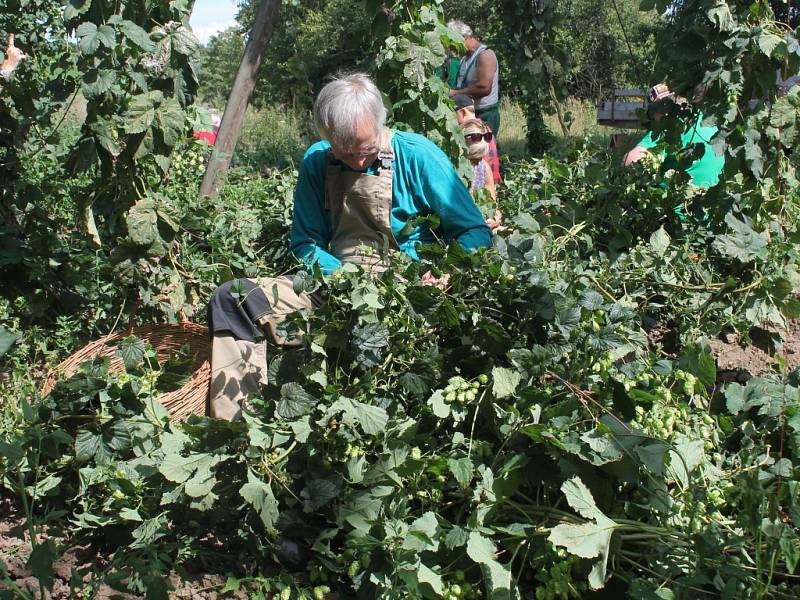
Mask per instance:
[[[456,87],[450,95],[466,94],[475,100],[475,115],[485,121],[495,135],[500,132],[500,65],[494,50],[475,37],[463,21],[450,21],[447,26],[464,38],[467,54],[461,60]]]

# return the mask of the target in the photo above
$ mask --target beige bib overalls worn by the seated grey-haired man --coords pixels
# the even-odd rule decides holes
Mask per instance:
[[[372,271],[387,268],[385,257],[399,250],[392,233],[392,167],[394,152],[391,133],[384,130],[379,169],[375,175],[345,171],[341,163],[329,157],[325,174],[325,208],[330,212],[331,236],[328,251],[342,262],[362,265]],[[211,416],[233,420],[242,412],[242,403],[250,394],[259,394],[267,383],[267,343],[300,346],[298,337],[278,335],[278,326],[297,310],[319,307],[319,294],[295,294],[291,277],[268,277],[255,280],[267,296],[272,312],[258,320],[267,341],[237,340],[230,335],[216,335],[211,349]]]

